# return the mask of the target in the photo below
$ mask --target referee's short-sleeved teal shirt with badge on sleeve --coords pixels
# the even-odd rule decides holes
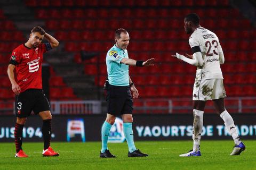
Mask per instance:
[[[129,58],[127,50],[115,45],[108,50],[106,64],[108,82],[114,86],[129,86],[129,65],[120,63],[123,58]]]

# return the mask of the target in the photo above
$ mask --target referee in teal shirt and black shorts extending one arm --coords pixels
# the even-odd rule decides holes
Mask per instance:
[[[153,66],[155,58],[150,58],[146,62],[129,59],[129,55],[127,53],[129,40],[129,33],[125,29],[117,29],[115,32],[116,44],[108,50],[106,56],[108,71],[108,84],[106,87],[107,118],[101,129],[101,158],[115,158],[115,156],[109,152],[107,143],[109,131],[111,126],[115,123],[117,115],[122,115],[124,122],[124,135],[129,148],[128,157],[148,156],[147,154],[143,154],[139,149],[137,149],[133,142],[133,101],[131,91],[133,98],[138,98],[139,92],[135,88],[134,83],[129,76],[129,65],[139,67]]]

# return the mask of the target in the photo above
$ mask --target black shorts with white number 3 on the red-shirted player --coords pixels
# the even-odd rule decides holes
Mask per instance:
[[[42,89],[28,89],[15,97],[16,117],[28,117],[31,112],[38,114],[50,111],[50,104]]]

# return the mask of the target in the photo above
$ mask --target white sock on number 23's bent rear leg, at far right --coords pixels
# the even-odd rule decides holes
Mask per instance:
[[[239,139],[238,133],[236,131],[236,127],[233,121],[233,118],[230,116],[228,111],[224,111],[220,114],[220,117],[223,119],[224,124],[229,132],[229,134],[232,136],[235,145],[239,145],[241,143],[241,140]]]

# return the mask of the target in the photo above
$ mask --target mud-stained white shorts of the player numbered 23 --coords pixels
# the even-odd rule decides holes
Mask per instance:
[[[214,100],[227,97],[223,79],[198,80],[194,83],[193,100]]]

